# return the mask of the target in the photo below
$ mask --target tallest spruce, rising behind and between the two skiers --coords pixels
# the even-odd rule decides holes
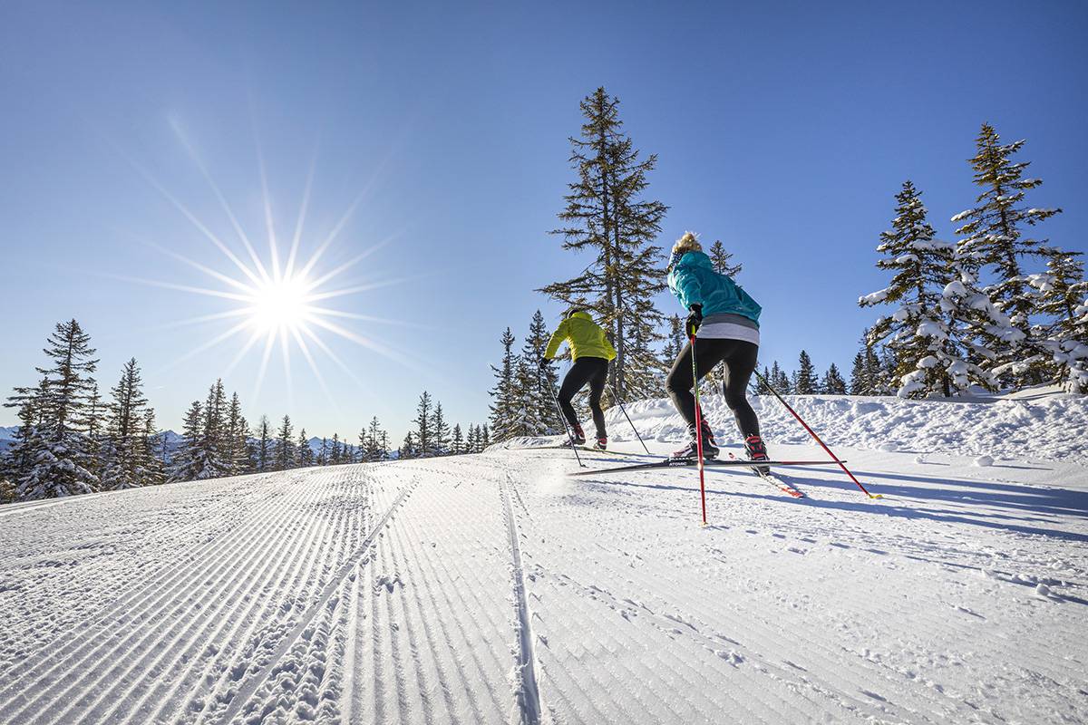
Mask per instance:
[[[643,200],[647,174],[657,164],[622,132],[619,99],[597,88],[581,102],[581,137],[570,138],[571,166],[578,179],[568,185],[564,249],[590,251],[593,258],[578,276],[539,291],[568,305],[590,310],[616,348],[609,379],[621,398],[660,393],[664,365],[652,346],[662,339],[662,313],[653,297],[665,288],[662,250],[653,245],[668,207]],[[610,391],[606,391],[610,396]],[[493,432],[500,438],[503,432]]]

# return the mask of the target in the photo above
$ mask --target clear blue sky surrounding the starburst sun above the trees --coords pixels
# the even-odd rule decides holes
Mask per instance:
[[[268,262],[260,149],[281,249],[312,167],[300,257],[359,199],[316,273],[384,240],[330,288],[385,286],[330,307],[399,323],[337,321],[392,359],[324,330],[350,371],[314,348],[327,392],[295,348],[256,393],[258,345],[224,380],[250,420],[354,435],[378,415],[399,440],[425,388],[452,421],[482,421],[503,328],[520,337],[537,308],[554,324],[532,290],[583,264],[546,232],[598,85],[658,154],[662,245],[693,229],[744,263],[768,362],[804,348],[849,371],[895,191],[913,179],[954,239],[982,121],[1028,139],[1046,182],[1029,201],[1065,209],[1042,233],[1088,249],[1083,3],[96,4],[0,11],[4,389],[34,382],[74,316],[102,388],[137,358],[177,427],[246,336],[177,362],[234,321],[169,325],[237,302],[133,280],[225,288],[163,249],[240,274],[162,192],[245,257],[195,159]]]

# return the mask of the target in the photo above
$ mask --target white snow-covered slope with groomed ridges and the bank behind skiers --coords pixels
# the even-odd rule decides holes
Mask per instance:
[[[508,448],[0,508],[0,723],[1088,720],[1085,403],[798,401],[882,500]]]

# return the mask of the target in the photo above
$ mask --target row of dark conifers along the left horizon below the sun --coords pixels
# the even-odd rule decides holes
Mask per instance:
[[[122,366],[118,384],[103,400],[90,336],[75,320],[58,323],[45,348],[47,363],[36,367],[38,384],[17,387],[4,403],[17,410],[20,425],[0,455],[0,503],[121,490],[185,480],[206,480],[268,471],[305,468],[482,451],[491,441],[486,424],[452,429],[442,403],[420,399],[416,432],[396,451],[378,417],[359,432],[358,442],[339,434],[311,446],[306,428],[284,415],[264,415],[250,428],[238,393],[227,397],[222,379],[185,413],[181,437],[170,441],[156,427],[144,393],[139,364]],[[316,450],[314,450],[316,449]]]

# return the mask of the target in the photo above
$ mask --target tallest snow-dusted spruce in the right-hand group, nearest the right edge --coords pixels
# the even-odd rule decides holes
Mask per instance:
[[[975,330],[980,348],[989,353],[981,366],[1004,384],[1024,386],[1042,382],[1048,373],[1048,357],[1033,336],[1030,317],[1036,312],[1036,296],[1025,274],[1029,260],[1044,253],[1046,240],[1026,236],[1024,227],[1035,226],[1062,210],[1024,203],[1027,191],[1040,186],[1042,179],[1024,178],[1029,162],[1013,161],[1024,140],[1000,141],[993,126],[984,123],[975,157],[969,160],[975,184],[984,190],[975,207],[952,221],[964,222],[956,234],[963,235],[957,249],[965,272],[990,280],[988,285],[980,283],[980,291],[1010,320],[1011,329],[996,330],[991,321]]]

